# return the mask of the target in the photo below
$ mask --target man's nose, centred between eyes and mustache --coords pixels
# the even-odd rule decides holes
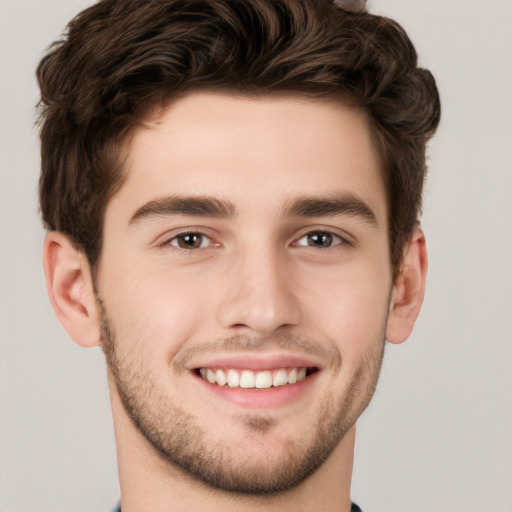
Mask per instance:
[[[228,270],[218,307],[225,329],[268,336],[301,319],[289,262],[279,252],[248,250]]]

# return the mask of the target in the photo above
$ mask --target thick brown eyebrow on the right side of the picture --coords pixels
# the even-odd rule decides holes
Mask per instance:
[[[374,211],[360,198],[352,194],[328,197],[303,197],[295,199],[284,209],[290,217],[329,217],[347,215],[359,217],[365,222],[378,226]]]

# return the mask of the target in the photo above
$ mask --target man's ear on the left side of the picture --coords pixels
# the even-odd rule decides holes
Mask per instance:
[[[48,296],[59,322],[78,345],[99,345],[96,297],[85,253],[63,233],[50,231],[44,241],[43,265]]]

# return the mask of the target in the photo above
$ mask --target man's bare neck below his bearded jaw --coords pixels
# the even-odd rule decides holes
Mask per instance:
[[[230,493],[198,481],[163,460],[126,413],[111,386],[123,512],[350,511],[355,426],[322,466],[296,488],[272,496]]]

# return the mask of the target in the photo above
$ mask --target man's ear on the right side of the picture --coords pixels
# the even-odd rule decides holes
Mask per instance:
[[[423,304],[427,266],[425,235],[416,229],[405,247],[391,293],[386,327],[386,339],[391,343],[403,343],[412,332]]]

